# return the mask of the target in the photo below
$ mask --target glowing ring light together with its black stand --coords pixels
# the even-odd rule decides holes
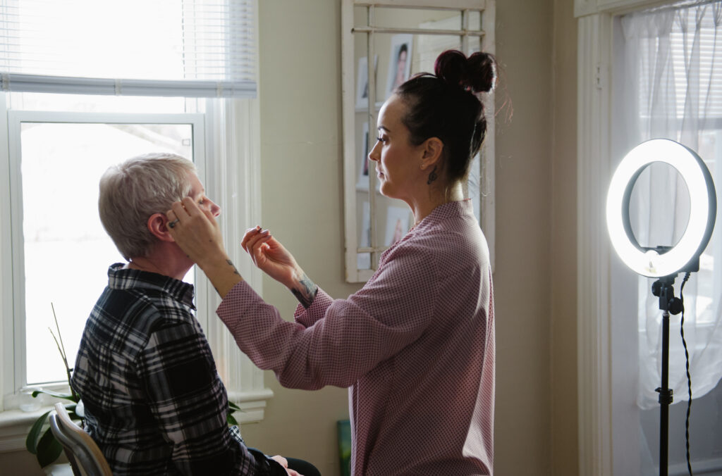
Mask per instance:
[[[664,162],[677,169],[690,193],[690,219],[684,235],[674,247],[641,247],[632,232],[629,204],[632,189],[640,173],[652,162]],[[700,255],[714,229],[717,195],[712,176],[703,160],[691,149],[669,139],[652,139],[632,149],[614,172],[606,200],[609,238],[622,261],[642,276],[658,278],[652,294],[659,298],[662,310],[662,362],[659,393],[659,475],[667,476],[669,444],[669,314],[683,310],[681,299],[674,297],[674,279],[680,272],[699,270]]]

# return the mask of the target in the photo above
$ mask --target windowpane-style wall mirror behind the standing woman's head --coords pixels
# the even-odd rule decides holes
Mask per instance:
[[[411,76],[434,71],[444,50],[467,55],[494,53],[494,2],[471,0],[344,0],[342,4],[342,94],[344,120],[344,211],[347,281],[367,281],[380,253],[414,224],[409,206],[381,195],[373,164],[383,102]],[[373,58],[373,60],[370,60]],[[493,260],[493,97],[487,97],[487,138],[471,167],[466,196],[490,245]]]

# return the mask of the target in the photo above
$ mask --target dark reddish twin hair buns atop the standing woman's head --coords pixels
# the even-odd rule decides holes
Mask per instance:
[[[466,58],[461,51],[446,50],[436,58],[434,72],[445,83],[471,92],[489,92],[496,84],[496,61],[490,53]]]

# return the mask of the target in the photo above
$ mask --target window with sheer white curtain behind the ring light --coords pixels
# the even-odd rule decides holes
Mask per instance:
[[[719,106],[722,69],[717,53],[722,50],[722,40],[717,40],[718,32],[722,31],[718,30],[720,14],[722,2],[713,1],[634,12],[615,22],[618,46],[613,50],[611,64],[612,164],[621,159],[619,149],[631,149],[650,138],[664,137],[697,151],[713,177],[720,178],[716,167],[720,159],[716,143],[722,137]],[[640,244],[672,246],[687,226],[690,211],[687,185],[674,168],[652,164],[636,182],[630,208],[630,214],[637,214],[633,228]],[[716,389],[722,376],[719,365],[722,332],[712,325],[719,315],[712,304],[722,298],[716,291],[720,288],[720,275],[714,266],[722,244],[720,237],[719,233],[713,234],[700,257],[700,269],[691,273],[684,287],[684,333],[695,397],[690,417],[690,457],[695,467],[701,464],[708,470],[722,470],[722,461],[712,449],[718,445],[701,443],[722,441],[722,433],[713,430],[720,428],[721,423],[715,420],[717,395],[722,395],[722,387]],[[625,270],[613,268],[612,281],[626,280],[623,273]],[[675,282],[677,296],[683,276],[680,274]],[[661,311],[658,298],[651,294],[655,280],[640,276],[635,276],[635,280],[637,286],[626,291],[617,292],[613,288],[612,301],[627,304],[632,311],[619,309],[625,314],[619,329],[638,332],[638,343],[630,347],[631,355],[625,358],[638,361],[638,366],[627,366],[627,371],[638,377],[637,395],[632,402],[640,408],[638,420],[643,437],[639,442],[639,472],[646,474],[655,472],[658,464],[659,404],[655,389],[661,381]],[[617,316],[612,315],[612,319]],[[669,408],[669,467],[682,470],[686,466],[684,401],[688,393],[679,322],[679,316],[670,322],[675,332],[671,332],[669,339],[669,387],[674,391],[674,402],[679,404]],[[619,369],[617,376],[623,372],[624,369]],[[650,459],[645,458],[647,453],[651,453]]]

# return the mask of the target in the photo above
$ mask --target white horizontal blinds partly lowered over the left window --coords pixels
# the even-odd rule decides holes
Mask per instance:
[[[253,0],[0,0],[2,89],[255,97]]]

